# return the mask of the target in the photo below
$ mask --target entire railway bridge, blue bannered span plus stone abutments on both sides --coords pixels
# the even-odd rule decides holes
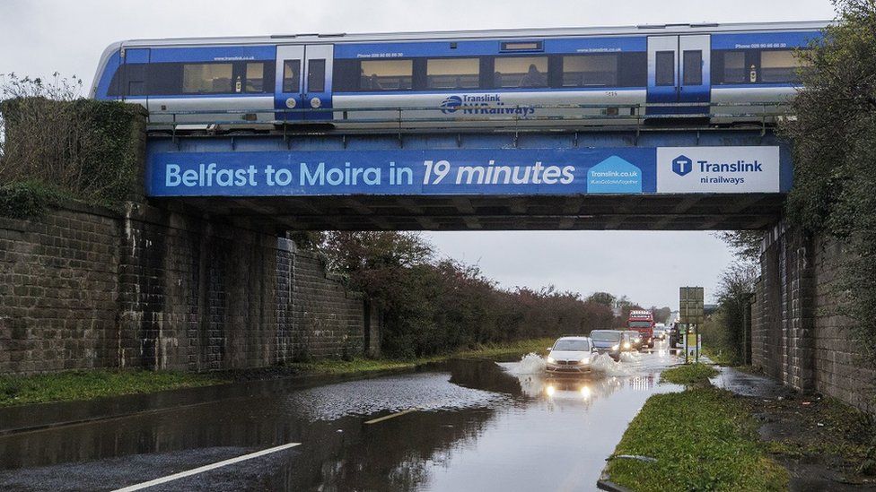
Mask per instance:
[[[854,400],[854,367],[837,362],[852,349],[816,311],[828,302],[840,248],[783,226],[793,186],[788,143],[769,125],[709,125],[689,113],[630,124],[612,116],[649,112],[603,109],[597,118],[610,124],[536,118],[430,128],[399,119],[356,131],[258,133],[215,117],[198,128],[190,115],[168,127],[159,115],[145,138],[148,203],[122,216],[74,206],[45,224],[0,224],[0,232],[33,264],[58,244],[65,257],[89,259],[57,263],[69,273],[56,263],[34,269],[30,281],[47,295],[66,293],[56,281],[66,278],[92,279],[80,290],[94,298],[108,298],[108,285],[118,292],[71,367],[97,353],[109,367],[206,370],[379,352],[379,314],[286,239],[290,230],[763,230],[751,363],[797,388]],[[30,293],[15,290],[13,300],[30,306]],[[37,307],[10,313],[5,323],[23,334],[45,316]],[[94,313],[71,316],[96,326]],[[27,343],[0,370],[49,370],[39,359],[45,350]]]

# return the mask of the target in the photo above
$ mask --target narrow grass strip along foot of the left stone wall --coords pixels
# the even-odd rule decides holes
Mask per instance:
[[[215,375],[172,371],[71,371],[0,376],[0,407],[48,401],[92,400],[103,396],[154,393],[227,383]]]

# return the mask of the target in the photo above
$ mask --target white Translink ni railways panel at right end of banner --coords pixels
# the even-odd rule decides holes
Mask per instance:
[[[657,193],[779,193],[779,148],[658,147]]]

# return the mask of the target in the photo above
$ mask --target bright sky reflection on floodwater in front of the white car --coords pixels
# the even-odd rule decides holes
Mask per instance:
[[[451,381],[518,394],[512,408],[497,409],[477,440],[453,446],[450,460],[433,467],[426,490],[592,490],[605,459],[626,425],[653,393],[676,391],[657,385],[668,352],[631,354],[625,362],[588,375],[556,377],[537,370],[538,361],[482,367],[477,384],[451,367]],[[542,365],[543,367],[543,365]],[[535,370],[534,370],[535,369]],[[484,374],[490,377],[484,377]],[[519,387],[519,392],[509,383]]]

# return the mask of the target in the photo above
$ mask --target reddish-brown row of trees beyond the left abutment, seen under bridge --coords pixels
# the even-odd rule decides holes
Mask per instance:
[[[316,244],[329,268],[347,275],[383,314],[382,349],[410,358],[477,343],[586,334],[614,322],[610,294],[599,302],[553,286],[497,289],[473,265],[436,261],[423,238],[407,232],[294,235]]]

